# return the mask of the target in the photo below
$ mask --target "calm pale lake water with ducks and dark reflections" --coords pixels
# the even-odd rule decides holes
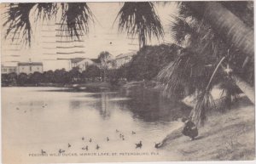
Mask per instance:
[[[158,161],[159,158],[169,161],[175,159],[174,152],[157,150],[154,142],[160,142],[180,127],[181,122],[175,120],[188,114],[189,110],[179,103],[144,90],[75,93],[65,92],[65,88],[2,88],[3,160],[29,163],[124,161],[126,158]],[[124,135],[124,140],[116,130]],[[143,142],[142,149],[136,149],[139,141]],[[82,150],[86,145],[89,150]],[[66,156],[58,155],[60,149],[65,150]],[[39,155],[41,150],[48,157],[29,155]],[[99,152],[145,155],[75,155]],[[152,152],[159,155],[148,156]],[[50,153],[56,156],[49,156]]]

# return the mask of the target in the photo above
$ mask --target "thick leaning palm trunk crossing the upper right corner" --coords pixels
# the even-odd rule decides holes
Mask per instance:
[[[199,15],[204,15],[205,20],[212,25],[212,28],[220,37],[224,36],[226,42],[240,49],[243,54],[253,57],[253,30],[236,17],[235,14],[232,14],[229,9],[216,2],[193,2],[189,3],[189,8]]]

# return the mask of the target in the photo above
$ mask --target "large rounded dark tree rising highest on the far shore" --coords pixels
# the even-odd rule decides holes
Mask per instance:
[[[146,46],[137,52],[131,62],[120,70],[126,71],[125,78],[131,80],[152,80],[170,61],[174,60],[181,47],[171,44]]]

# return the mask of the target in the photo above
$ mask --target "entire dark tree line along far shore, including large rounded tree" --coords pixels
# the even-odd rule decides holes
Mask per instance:
[[[182,48],[175,44],[146,46],[133,56],[130,62],[118,69],[108,69],[106,66],[89,65],[80,72],[78,67],[71,71],[65,69],[55,71],[38,71],[32,74],[15,72],[2,75],[3,86],[40,85],[42,83],[74,84],[84,82],[110,82],[118,85],[122,81],[153,80],[160,70],[175,59]],[[107,54],[107,53],[105,53]],[[101,56],[101,55],[100,55]],[[101,59],[99,56],[99,59]]]

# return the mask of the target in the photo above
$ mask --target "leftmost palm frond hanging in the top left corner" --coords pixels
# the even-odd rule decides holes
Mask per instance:
[[[9,3],[9,7],[3,16],[6,19],[3,26],[8,26],[5,38],[12,34],[12,41],[15,38],[21,38],[29,46],[31,45],[32,27],[29,14],[34,5],[36,3]]]

